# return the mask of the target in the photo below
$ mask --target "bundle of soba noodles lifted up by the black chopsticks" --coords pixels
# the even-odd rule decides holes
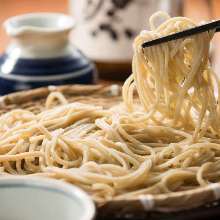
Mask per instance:
[[[161,12],[154,14],[152,30],[142,31],[134,42],[133,74],[123,91],[128,109],[134,110],[132,93],[136,87],[149,118],[155,116],[162,124],[195,130],[194,140],[208,128],[219,134],[219,82],[208,61],[213,32],[143,49],[146,41],[195,26],[187,18],[174,17],[155,27],[158,15],[166,18]]]

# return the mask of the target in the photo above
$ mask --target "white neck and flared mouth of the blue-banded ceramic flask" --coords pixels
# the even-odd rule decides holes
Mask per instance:
[[[74,20],[58,13],[31,13],[12,17],[4,23],[12,38],[6,53],[20,58],[54,58],[73,53],[68,34]],[[16,52],[15,52],[16,51]]]

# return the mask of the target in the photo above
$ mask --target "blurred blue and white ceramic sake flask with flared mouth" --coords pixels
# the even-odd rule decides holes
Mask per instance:
[[[93,83],[94,64],[68,39],[71,17],[34,13],[4,24],[12,41],[0,57],[0,94],[47,85]]]

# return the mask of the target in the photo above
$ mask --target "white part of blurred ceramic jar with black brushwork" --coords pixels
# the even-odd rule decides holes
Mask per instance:
[[[148,18],[162,10],[177,15],[179,0],[69,0],[76,19],[74,44],[89,58],[109,63],[130,62],[132,42],[148,29]]]

